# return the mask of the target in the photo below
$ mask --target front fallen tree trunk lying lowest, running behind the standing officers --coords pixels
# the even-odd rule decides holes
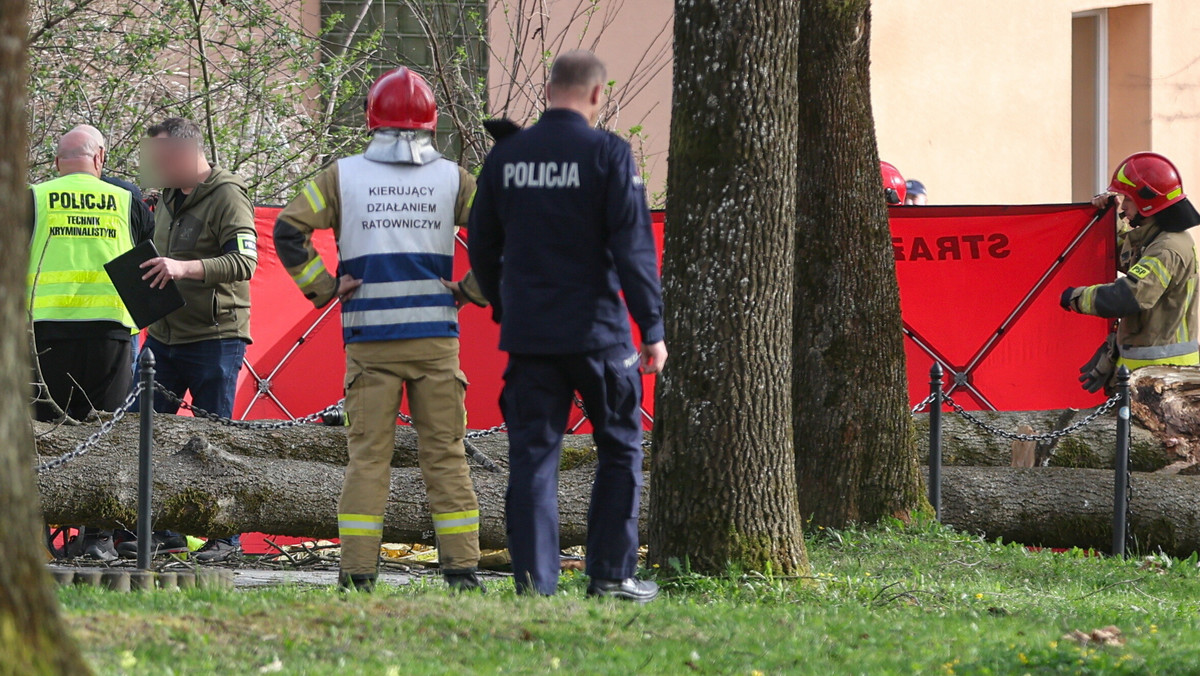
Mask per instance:
[[[312,460],[254,457],[209,423],[160,417],[155,451],[155,527],[221,536],[264,531],[281,536],[336,537],[342,468]],[[46,519],[55,524],[124,525],[137,520],[136,425],[122,423],[95,450],[41,474]],[[44,431],[44,427],[38,427]],[[49,436],[62,433],[60,427]],[[73,430],[71,436],[82,435]],[[262,435],[264,432],[250,432]],[[275,432],[283,433],[283,432]],[[336,439],[338,429],[306,426],[300,436]],[[397,435],[408,432],[401,431]],[[43,437],[49,438],[49,436]],[[184,439],[166,443],[167,438]],[[136,435],[134,435],[136,438]],[[256,437],[257,438],[257,437]],[[504,465],[506,437],[480,441],[481,450]],[[578,443],[581,439],[572,439]],[[218,443],[220,442],[220,443]],[[343,441],[344,443],[344,441]],[[473,468],[479,493],[480,539],[503,548],[505,474]],[[562,543],[584,543],[593,467],[564,469],[559,481]],[[649,485],[647,480],[646,485]],[[1200,477],[1135,473],[1133,532],[1139,546],[1187,556],[1200,550]],[[643,509],[647,504],[643,496]],[[1112,472],[1099,469],[946,467],[943,520],[989,538],[1044,546],[1106,549],[1111,543]],[[643,521],[644,524],[644,521]],[[432,524],[420,471],[392,469],[384,537],[432,542]]]

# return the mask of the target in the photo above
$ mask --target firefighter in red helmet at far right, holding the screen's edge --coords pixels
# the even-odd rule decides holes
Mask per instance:
[[[1183,192],[1178,169],[1157,152],[1135,152],[1117,164],[1097,208],[1120,209],[1123,275],[1114,282],[1070,287],[1064,310],[1117,319],[1116,331],[1080,369],[1088,391],[1109,384],[1117,366],[1200,364],[1196,343],[1196,255],[1188,228],[1200,214]]]

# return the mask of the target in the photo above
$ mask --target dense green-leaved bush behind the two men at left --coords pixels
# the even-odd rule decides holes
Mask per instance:
[[[289,199],[329,157],[356,151],[359,127],[324,101],[361,96],[377,38],[329,46],[300,26],[300,0],[49,0],[30,17],[30,180],[53,174],[71,126],[108,137],[108,168],[136,179],[138,140],[172,115],[206,130],[211,160],[258,202]],[[353,49],[352,49],[353,48]]]

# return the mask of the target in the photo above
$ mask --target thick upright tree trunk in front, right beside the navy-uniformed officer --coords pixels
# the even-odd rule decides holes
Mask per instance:
[[[649,558],[800,573],[794,2],[677,0]]]

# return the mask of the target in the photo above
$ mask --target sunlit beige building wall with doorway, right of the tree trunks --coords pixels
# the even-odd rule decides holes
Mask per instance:
[[[1087,71],[1073,56],[1094,52],[1080,42],[1096,36],[1073,24],[1094,10],[1108,24],[1106,125],[1094,98],[1085,106],[1100,88],[1080,91]],[[1096,173],[1086,140],[1099,122],[1102,174],[1129,152],[1156,150],[1200,190],[1198,35],[1200,2],[1189,0],[876,0],[880,154],[924,181],[934,203],[1069,202],[1098,187],[1078,173],[1085,163]]]

